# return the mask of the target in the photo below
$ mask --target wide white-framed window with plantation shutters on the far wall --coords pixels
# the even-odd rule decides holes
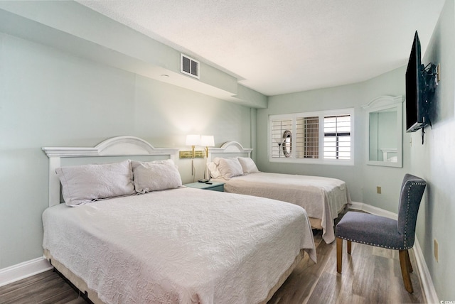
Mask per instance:
[[[353,109],[269,116],[269,161],[353,165]]]

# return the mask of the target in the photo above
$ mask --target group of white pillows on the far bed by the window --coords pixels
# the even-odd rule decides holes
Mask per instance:
[[[213,162],[207,164],[212,178],[224,178],[230,180],[235,176],[250,173],[259,173],[255,161],[249,157],[213,158]]]

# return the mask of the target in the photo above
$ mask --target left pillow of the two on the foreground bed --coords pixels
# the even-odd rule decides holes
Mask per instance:
[[[68,206],[136,194],[129,161],[61,167],[55,173]]]

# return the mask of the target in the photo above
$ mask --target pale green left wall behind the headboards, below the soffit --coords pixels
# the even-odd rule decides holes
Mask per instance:
[[[0,269],[43,256],[41,213],[48,206],[43,146],[95,146],[139,136],[186,148],[189,133],[215,144],[251,145],[249,107],[0,33]],[[196,160],[197,178],[203,160]],[[191,163],[178,161],[183,182]]]

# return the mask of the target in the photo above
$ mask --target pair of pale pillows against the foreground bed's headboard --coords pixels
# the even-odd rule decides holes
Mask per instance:
[[[75,165],[58,168],[55,172],[68,206],[182,185],[178,168],[170,159]]]

